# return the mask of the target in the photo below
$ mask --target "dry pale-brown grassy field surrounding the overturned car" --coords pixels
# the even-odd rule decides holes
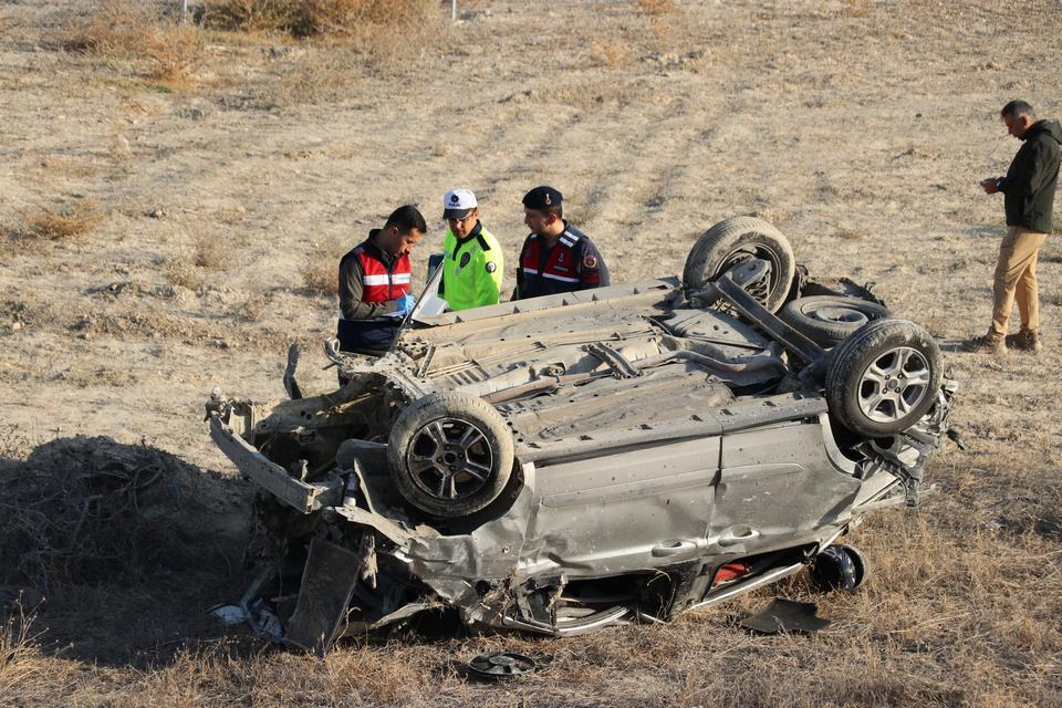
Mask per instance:
[[[0,3],[0,705],[1062,705],[1058,238],[1042,355],[954,351],[988,323],[1002,205],[976,183],[1018,146],[998,110],[1062,116],[1062,3],[460,6],[283,32]],[[246,581],[247,500],[202,425],[210,388],[282,396],[292,341],[303,388],[331,385],[339,253],[412,201],[423,273],[460,185],[511,263],[542,183],[616,281],[680,272],[700,231],[753,214],[812,273],[876,282],[962,386],[969,450],[935,458],[940,492],[853,532],[874,575],[816,596],[834,624],[812,637],[736,625],[811,597],[802,580],[669,626],[426,626],[323,662],[209,626]],[[501,647],[543,670],[461,675]]]

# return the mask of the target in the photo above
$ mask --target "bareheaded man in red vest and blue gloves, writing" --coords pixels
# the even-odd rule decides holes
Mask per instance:
[[[427,226],[416,207],[398,207],[382,229],[340,260],[340,350],[381,355],[413,310],[409,252]],[[342,381],[341,381],[342,383]]]

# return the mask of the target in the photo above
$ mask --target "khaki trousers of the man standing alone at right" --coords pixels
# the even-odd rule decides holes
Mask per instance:
[[[1037,233],[1020,226],[1007,227],[1007,236],[999,244],[999,260],[992,291],[992,326],[988,336],[1001,340],[1007,335],[1010,310],[1018,300],[1021,329],[1040,331],[1040,296],[1037,287],[1037,258],[1047,233]]]

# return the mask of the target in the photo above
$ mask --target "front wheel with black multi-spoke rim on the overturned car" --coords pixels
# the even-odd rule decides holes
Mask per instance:
[[[513,444],[490,404],[430,394],[398,415],[387,445],[395,486],[412,506],[452,519],[488,506],[512,473]]]

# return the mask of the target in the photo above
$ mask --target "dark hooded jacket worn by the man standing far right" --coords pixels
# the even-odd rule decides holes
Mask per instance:
[[[1062,127],[1055,121],[1037,121],[1021,139],[1024,144],[999,185],[1007,226],[1050,233],[1054,189],[1059,184]]]

